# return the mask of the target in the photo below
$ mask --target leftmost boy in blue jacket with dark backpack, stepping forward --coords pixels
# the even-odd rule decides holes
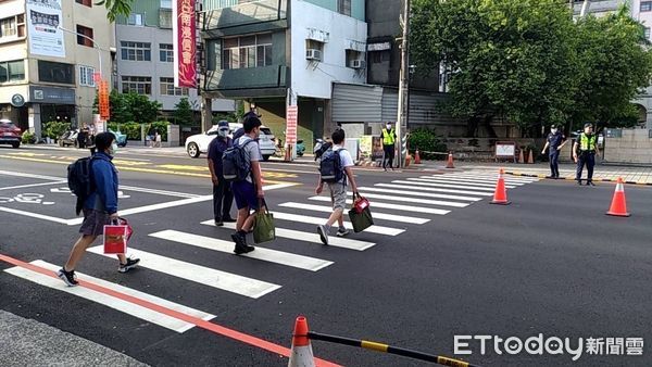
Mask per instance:
[[[67,286],[78,284],[75,267],[84,256],[86,249],[98,236],[103,235],[104,225],[118,220],[117,216],[117,169],[111,162],[117,144],[111,132],[101,132],[96,137],[97,152],[89,159],[80,159],[68,166],[68,187],[77,195],[76,213],[84,211],[84,222],[68,261],[57,271]],[[139,258],[127,258],[118,254],[117,271],[127,273],[135,268]]]

